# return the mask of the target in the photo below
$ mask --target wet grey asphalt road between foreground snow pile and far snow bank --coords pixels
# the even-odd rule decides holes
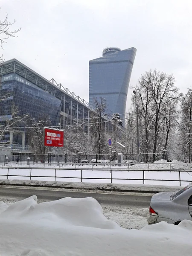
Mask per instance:
[[[58,200],[64,197],[72,198],[95,198],[102,204],[117,204],[117,205],[131,205],[140,207],[149,207],[152,195],[120,195],[120,194],[106,194],[106,193],[91,193],[91,192],[73,192],[49,189],[29,189],[29,188],[10,188],[0,187],[0,195],[16,198],[27,198],[31,195],[36,195],[38,199],[44,200]]]

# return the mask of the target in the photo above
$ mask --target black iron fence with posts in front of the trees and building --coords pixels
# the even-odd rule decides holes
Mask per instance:
[[[122,154],[123,163],[137,163],[137,154]],[[144,163],[153,162],[153,153],[140,153],[140,161]],[[155,154],[155,160],[167,160],[167,151],[164,153]],[[108,163],[110,161],[109,154],[17,154],[17,155],[0,155],[1,163]],[[115,151],[111,152],[111,163],[118,161],[118,154]]]

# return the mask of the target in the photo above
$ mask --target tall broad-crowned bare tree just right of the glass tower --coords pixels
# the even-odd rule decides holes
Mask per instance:
[[[168,143],[170,119],[167,116],[170,116],[177,106],[178,88],[175,87],[175,78],[172,75],[150,70],[141,76],[139,86],[135,89],[140,116],[144,119],[144,125],[140,123],[140,128],[144,126],[145,129],[145,152],[148,153],[150,149],[155,161],[160,137],[166,137],[164,146]],[[174,108],[169,108],[170,106]],[[163,118],[165,115],[166,118]],[[166,132],[163,133],[164,123],[166,123]]]

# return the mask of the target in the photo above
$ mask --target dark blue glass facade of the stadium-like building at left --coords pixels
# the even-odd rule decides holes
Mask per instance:
[[[52,126],[57,126],[60,119],[61,99],[42,90],[17,74],[3,76],[0,83],[0,122],[11,119],[12,113],[29,115],[32,118],[50,120]],[[19,128],[26,132],[25,128]],[[10,140],[10,134],[4,134],[2,142]],[[25,144],[27,143],[25,138]],[[13,134],[13,144],[22,144],[22,133]]]

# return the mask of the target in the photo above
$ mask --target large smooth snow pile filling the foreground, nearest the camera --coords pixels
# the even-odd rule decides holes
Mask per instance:
[[[2,209],[3,207],[3,209]],[[3,256],[190,255],[192,221],[126,230],[108,221],[93,198],[37,204],[36,196],[0,204]]]

